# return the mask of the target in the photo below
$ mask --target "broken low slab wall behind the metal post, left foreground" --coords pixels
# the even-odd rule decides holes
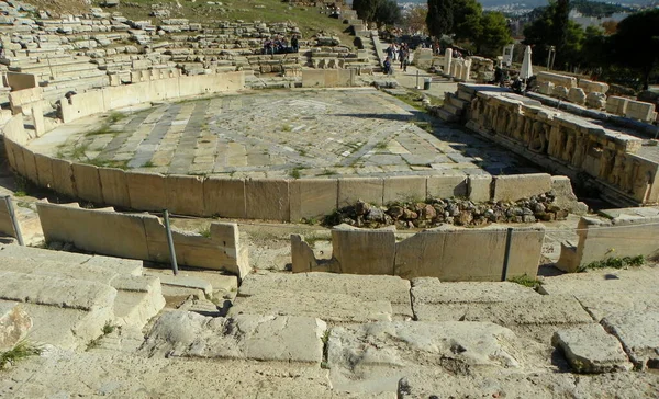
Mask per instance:
[[[69,242],[104,255],[168,263],[163,221],[153,215],[120,214],[114,209],[83,209],[77,204],[37,203],[46,242]],[[238,226],[212,223],[210,237],[172,229],[177,262],[181,265],[224,270],[244,278],[249,273],[247,247]]]

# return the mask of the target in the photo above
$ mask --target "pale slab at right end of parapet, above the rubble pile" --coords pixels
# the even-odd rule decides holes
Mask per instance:
[[[551,191],[547,173],[500,175],[494,179],[494,201],[517,201]]]

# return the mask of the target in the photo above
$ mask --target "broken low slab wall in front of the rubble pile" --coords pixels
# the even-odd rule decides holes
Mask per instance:
[[[506,228],[491,225],[467,229],[440,226],[396,242],[395,229],[359,229],[339,225],[332,230],[330,260],[315,259],[298,235],[291,237],[292,271],[398,275],[403,278],[438,277],[440,281],[502,281],[537,274],[545,228],[514,228],[509,265],[503,277]],[[465,251],[469,248],[469,251]]]

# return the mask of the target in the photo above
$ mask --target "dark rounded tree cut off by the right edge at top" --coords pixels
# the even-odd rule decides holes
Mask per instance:
[[[643,89],[650,84],[650,75],[659,67],[659,10],[632,14],[621,21],[611,38],[615,62],[638,71]]]

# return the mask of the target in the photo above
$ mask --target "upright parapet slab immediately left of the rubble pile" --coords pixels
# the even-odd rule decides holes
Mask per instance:
[[[337,179],[295,179],[289,182],[290,220],[328,215],[338,207]]]

